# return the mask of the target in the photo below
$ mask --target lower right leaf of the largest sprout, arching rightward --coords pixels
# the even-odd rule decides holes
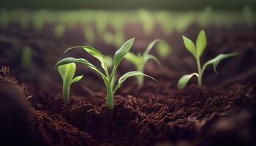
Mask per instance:
[[[146,75],[146,74],[143,74],[142,72],[138,72],[138,71],[127,72],[126,74],[124,74],[123,76],[121,76],[121,77],[119,78],[119,80],[118,80],[118,85],[116,85],[116,88],[115,88],[115,90],[113,91],[113,93],[116,93],[116,90],[117,90],[118,88],[120,88],[121,84],[122,84],[125,80],[127,80],[127,78],[129,78],[129,77],[135,77],[135,76],[145,76],[145,77],[149,77],[149,78],[151,78],[152,80],[154,80],[154,81],[157,82],[157,80],[155,80],[153,77],[150,77],[150,76],[148,76],[148,75]]]

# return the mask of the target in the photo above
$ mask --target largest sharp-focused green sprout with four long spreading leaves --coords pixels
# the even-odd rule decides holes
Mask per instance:
[[[61,65],[70,64],[70,63],[80,63],[80,64],[83,64],[83,65],[89,67],[90,69],[93,69],[94,72],[99,74],[99,77],[101,77],[105,83],[105,86],[107,88],[107,98],[106,98],[107,107],[108,107],[108,109],[113,110],[113,108],[114,108],[113,97],[114,97],[117,89],[120,88],[121,84],[125,80],[127,80],[127,78],[136,77],[136,76],[150,77],[150,76],[143,74],[142,72],[138,72],[138,71],[127,72],[126,74],[124,74],[123,76],[121,76],[119,78],[116,87],[114,87],[114,85],[113,85],[113,82],[115,82],[114,77],[116,74],[118,64],[120,64],[122,58],[124,58],[124,55],[126,55],[129,52],[130,48],[132,47],[133,41],[134,41],[134,39],[129,39],[127,42],[124,43],[124,45],[122,45],[116,51],[116,53],[112,59],[113,60],[113,69],[112,69],[111,73],[108,72],[108,64],[107,64],[107,60],[106,60],[105,56],[102,55],[102,53],[100,53],[99,51],[95,50],[93,47],[89,47],[89,46],[70,47],[69,49],[67,49],[65,51],[65,53],[68,50],[82,47],[83,50],[85,50],[87,53],[89,53],[90,55],[92,55],[93,57],[97,58],[97,60],[100,61],[102,69],[104,70],[103,73],[100,72],[99,69],[97,69],[93,64],[91,64],[89,61],[87,61],[84,58],[64,58],[61,61],[59,61],[56,64],[56,66],[61,66]],[[153,77],[150,77],[150,78],[154,80]]]

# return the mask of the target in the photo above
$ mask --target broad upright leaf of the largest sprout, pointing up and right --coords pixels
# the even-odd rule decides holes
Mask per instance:
[[[114,68],[117,68],[118,64],[120,63],[121,59],[124,58],[124,55],[126,55],[130,48],[132,47],[132,43],[134,41],[133,39],[129,39],[127,42],[124,43],[124,45],[122,45],[120,47],[120,49],[118,49],[113,57],[113,62],[114,62]]]

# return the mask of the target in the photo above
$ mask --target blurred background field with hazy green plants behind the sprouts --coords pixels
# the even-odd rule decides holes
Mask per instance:
[[[165,42],[152,53],[165,67],[154,72],[153,64],[146,72],[174,85],[181,74],[197,69],[181,35],[195,41],[204,29],[208,47],[202,61],[219,53],[241,54],[221,65],[220,79],[210,73],[212,69],[206,71],[206,85],[245,83],[255,80],[255,8],[255,0],[1,0],[0,65],[10,66],[19,80],[47,88],[48,82],[61,82],[53,68],[56,61],[64,56],[85,58],[82,51],[64,55],[68,47],[91,45],[113,55],[124,41],[135,37],[132,52],[141,53],[151,41],[162,39]],[[132,68],[124,62],[120,72]],[[94,76],[89,70],[78,70],[78,74],[85,72]],[[91,82],[98,80],[92,77]]]

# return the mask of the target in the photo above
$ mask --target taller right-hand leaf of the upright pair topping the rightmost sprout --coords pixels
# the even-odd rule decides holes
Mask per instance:
[[[196,45],[197,45],[197,58],[200,58],[200,56],[203,54],[203,51],[206,49],[206,45],[207,45],[205,31],[202,30],[198,34]]]

